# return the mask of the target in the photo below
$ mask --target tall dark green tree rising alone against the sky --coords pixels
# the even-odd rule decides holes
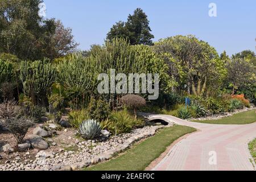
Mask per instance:
[[[147,15],[142,9],[136,9],[133,15],[129,15],[127,22],[118,22],[110,30],[107,39],[125,38],[131,45],[152,45],[154,35],[151,33]]]

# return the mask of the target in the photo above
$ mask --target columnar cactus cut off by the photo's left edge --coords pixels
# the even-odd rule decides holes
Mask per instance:
[[[13,76],[13,65],[9,62],[0,60],[0,85],[3,82],[11,81]]]

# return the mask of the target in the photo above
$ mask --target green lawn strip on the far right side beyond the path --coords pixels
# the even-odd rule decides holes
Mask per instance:
[[[217,120],[205,120],[205,121],[194,120],[192,122],[221,124],[221,125],[245,125],[245,124],[256,122],[256,113],[255,113],[255,110],[250,110],[250,111],[245,111],[242,113],[234,114],[230,117],[225,117]]]

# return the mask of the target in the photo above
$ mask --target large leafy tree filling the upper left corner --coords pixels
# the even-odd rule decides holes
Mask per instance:
[[[23,60],[54,59],[77,47],[71,28],[38,15],[43,0],[0,1],[0,52]]]

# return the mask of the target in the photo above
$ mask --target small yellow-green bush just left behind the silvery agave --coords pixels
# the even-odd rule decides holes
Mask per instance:
[[[68,122],[72,127],[79,128],[82,121],[89,119],[89,114],[85,109],[82,110],[72,110],[68,113]]]

